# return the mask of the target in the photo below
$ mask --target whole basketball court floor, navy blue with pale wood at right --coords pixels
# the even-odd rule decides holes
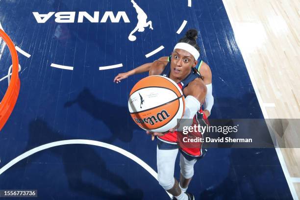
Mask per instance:
[[[170,199],[156,180],[156,142],[127,108],[147,74],[113,79],[170,55],[189,28],[212,71],[210,119],[300,118],[299,0],[135,2],[139,9],[130,0],[0,0],[0,28],[21,65],[20,94],[0,131],[0,190],[37,190],[42,200]],[[139,14],[153,30],[134,31]],[[0,55],[3,77],[11,58],[7,48]],[[6,89],[1,81],[1,98]],[[297,200],[298,150],[209,149],[188,191],[197,200]]]

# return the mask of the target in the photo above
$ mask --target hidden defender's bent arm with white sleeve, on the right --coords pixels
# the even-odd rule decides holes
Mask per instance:
[[[200,66],[200,74],[204,77],[203,82],[207,88],[207,94],[205,97],[204,110],[206,117],[210,115],[212,106],[214,105],[214,97],[212,95],[212,75],[210,67],[202,62]]]

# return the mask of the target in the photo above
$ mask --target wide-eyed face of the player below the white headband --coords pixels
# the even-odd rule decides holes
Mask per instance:
[[[197,65],[197,60],[186,50],[175,49],[171,59],[171,74],[172,77],[181,79],[185,78],[191,68]]]

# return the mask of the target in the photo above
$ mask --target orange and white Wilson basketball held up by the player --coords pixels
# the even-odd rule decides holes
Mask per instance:
[[[166,132],[184,114],[184,96],[170,78],[152,75],[141,79],[129,94],[128,108],[133,121],[150,132]]]

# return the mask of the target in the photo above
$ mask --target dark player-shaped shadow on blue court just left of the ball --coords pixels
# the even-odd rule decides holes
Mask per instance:
[[[65,107],[73,106],[75,103],[110,129],[112,135],[101,140],[101,142],[112,143],[116,139],[130,142],[133,137],[133,130],[138,129],[138,126],[130,119],[127,107],[99,100],[87,88],[83,89],[75,100],[66,102]]]

